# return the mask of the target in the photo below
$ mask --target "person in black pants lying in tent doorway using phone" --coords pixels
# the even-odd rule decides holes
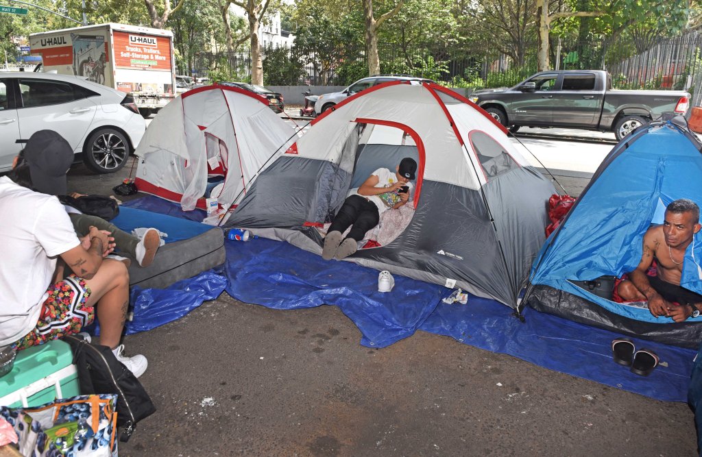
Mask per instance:
[[[366,232],[378,225],[380,215],[388,209],[397,209],[407,204],[416,178],[417,162],[405,157],[395,167],[378,168],[373,171],[361,187],[352,189],[349,197],[339,209],[324,238],[322,258],[338,260],[347,258],[358,249]],[[343,233],[351,227],[346,238]]]

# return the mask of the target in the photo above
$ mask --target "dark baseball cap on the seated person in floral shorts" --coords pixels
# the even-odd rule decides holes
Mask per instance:
[[[29,175],[37,192],[49,195],[66,194],[66,173],[73,163],[71,145],[53,130],[35,132],[23,152],[29,164]]]

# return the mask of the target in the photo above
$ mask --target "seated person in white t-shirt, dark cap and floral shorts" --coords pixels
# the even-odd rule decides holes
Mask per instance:
[[[46,193],[66,193],[73,151],[53,131],[34,133],[32,141],[0,177],[0,346],[22,350],[78,333],[96,309],[100,343],[140,376],[146,358],[124,356],[119,344],[129,275],[124,263],[105,258],[114,239],[95,227],[77,237],[63,205]]]

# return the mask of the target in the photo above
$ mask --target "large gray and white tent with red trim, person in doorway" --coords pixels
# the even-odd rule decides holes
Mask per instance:
[[[401,81],[358,93],[312,124],[253,180],[228,227],[321,252],[314,227],[333,218],[350,188],[413,157],[409,225],[350,260],[516,306],[555,189],[503,126],[449,89]]]

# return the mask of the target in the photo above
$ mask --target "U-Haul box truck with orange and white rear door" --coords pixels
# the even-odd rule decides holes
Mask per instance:
[[[173,100],[173,33],[124,24],[100,24],[29,35],[44,72],[74,74],[131,93],[148,116]]]

